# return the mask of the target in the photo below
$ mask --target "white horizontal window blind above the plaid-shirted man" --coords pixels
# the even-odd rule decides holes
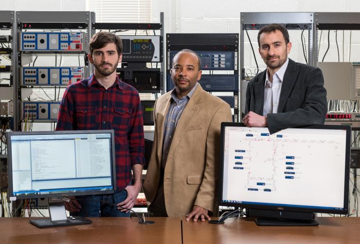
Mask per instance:
[[[151,0],[88,0],[98,23],[150,23]]]

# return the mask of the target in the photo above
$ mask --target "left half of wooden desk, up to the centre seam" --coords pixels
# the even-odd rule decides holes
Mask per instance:
[[[140,225],[136,218],[89,218],[90,225],[37,228],[29,218],[0,218],[0,243],[126,243],[181,244],[180,218],[146,218],[153,225]]]

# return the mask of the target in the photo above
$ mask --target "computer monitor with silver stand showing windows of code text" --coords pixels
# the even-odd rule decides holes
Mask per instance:
[[[7,138],[9,197],[48,197],[51,219],[30,221],[40,228],[91,223],[67,218],[63,199],[116,190],[113,130],[8,132]]]

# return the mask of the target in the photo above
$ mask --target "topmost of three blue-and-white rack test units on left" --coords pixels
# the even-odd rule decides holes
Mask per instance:
[[[23,32],[20,36],[21,51],[76,51],[86,50],[84,33]]]

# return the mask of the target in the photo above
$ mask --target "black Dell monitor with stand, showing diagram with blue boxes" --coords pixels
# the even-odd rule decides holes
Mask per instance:
[[[270,134],[221,124],[219,205],[246,209],[258,225],[318,225],[315,213],[348,213],[350,126]]]

